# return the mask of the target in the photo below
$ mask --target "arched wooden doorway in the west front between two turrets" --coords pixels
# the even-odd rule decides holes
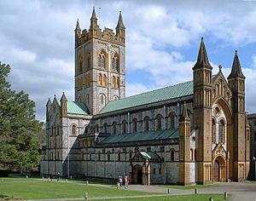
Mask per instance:
[[[226,181],[226,165],[222,157],[218,157],[213,163],[213,181],[224,182]]]

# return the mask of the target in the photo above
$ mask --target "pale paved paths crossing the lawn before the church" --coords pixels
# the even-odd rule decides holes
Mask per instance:
[[[82,184],[82,182],[80,182]],[[91,186],[96,187],[108,187],[115,188],[110,185],[100,185],[100,184],[90,184]],[[111,197],[111,198],[145,198],[145,197],[153,197],[153,196],[163,196],[163,195],[181,195],[181,194],[193,194],[195,193],[195,189],[177,189],[177,188],[169,188],[169,193],[167,187],[155,187],[155,186],[143,186],[143,185],[130,185],[127,189],[139,192],[155,192],[159,194],[155,195],[143,195],[143,196],[125,196],[125,197]],[[230,201],[256,201],[256,184],[255,183],[237,183],[237,182],[229,182],[229,183],[218,183],[218,187],[206,187],[199,188],[198,193],[221,193],[228,192],[228,194],[232,194],[232,198]],[[109,198],[109,197],[108,197]],[[108,199],[101,198],[101,199]],[[83,200],[84,198],[59,198],[59,199],[41,199],[37,201],[62,201],[62,200]],[[100,199],[100,198],[88,198],[92,199]]]

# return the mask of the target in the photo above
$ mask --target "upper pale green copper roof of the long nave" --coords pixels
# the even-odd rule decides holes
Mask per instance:
[[[186,95],[193,95],[193,81],[178,83],[163,89],[155,89],[140,95],[132,95],[120,100],[109,102],[104,106],[100,113],[123,110],[134,106],[143,106],[146,104],[170,100]]]

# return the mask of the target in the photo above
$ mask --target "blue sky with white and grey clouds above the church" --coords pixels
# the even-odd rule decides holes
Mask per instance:
[[[227,77],[235,55],[246,76],[246,110],[256,112],[256,1],[43,1],[0,0],[0,60],[9,81],[45,104],[65,91],[73,100],[74,27],[89,29],[92,7],[103,29],[115,29],[119,10],[126,27],[126,95],[192,79],[201,37],[218,72]],[[99,9],[101,8],[101,9]]]

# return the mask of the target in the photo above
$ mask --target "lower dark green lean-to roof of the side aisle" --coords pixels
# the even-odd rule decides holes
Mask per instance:
[[[105,143],[120,143],[130,141],[156,141],[164,139],[175,139],[179,137],[178,129],[162,129],[156,131],[140,132],[135,134],[125,135],[110,135],[102,144]]]

